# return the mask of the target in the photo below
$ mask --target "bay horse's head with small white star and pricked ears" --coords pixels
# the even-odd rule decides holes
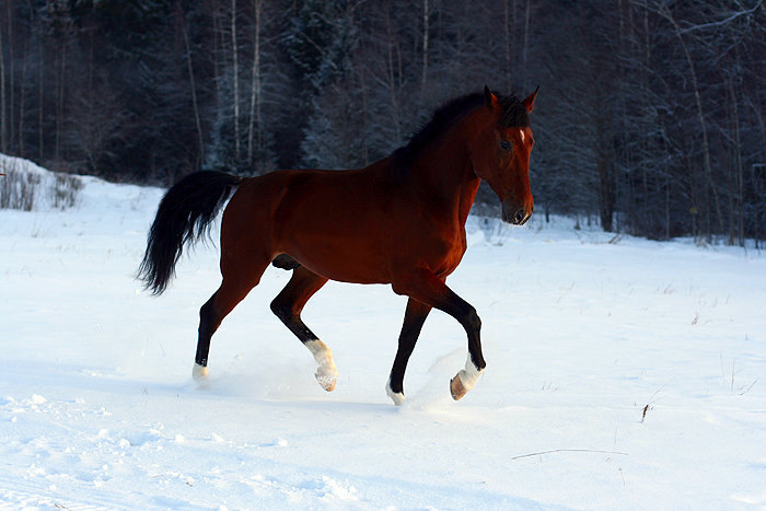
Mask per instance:
[[[487,86],[484,95],[487,108],[478,117],[483,124],[469,148],[471,163],[500,198],[502,220],[522,225],[534,209],[530,153],[535,139],[527,114],[534,108],[537,90],[524,101],[514,95],[498,97]]]

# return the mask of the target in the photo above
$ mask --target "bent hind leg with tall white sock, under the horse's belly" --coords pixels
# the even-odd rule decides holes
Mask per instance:
[[[271,311],[309,348],[318,364],[315,374],[316,381],[320,382],[322,388],[329,392],[335,388],[335,382],[338,378],[333,351],[301,320],[303,306],[326,282],[326,278],[304,267],[294,269],[288,284],[271,302]]]

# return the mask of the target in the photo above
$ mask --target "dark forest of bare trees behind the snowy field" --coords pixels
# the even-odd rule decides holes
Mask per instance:
[[[451,97],[541,85],[537,214],[652,239],[763,240],[765,78],[764,0],[0,0],[1,152],[162,185],[360,167]]]

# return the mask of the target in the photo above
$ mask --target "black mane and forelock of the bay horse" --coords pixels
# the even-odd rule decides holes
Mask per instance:
[[[495,95],[498,97],[502,108],[500,120],[498,121],[501,128],[530,126],[526,108],[515,94],[503,96],[496,92]],[[413,135],[406,146],[394,151],[396,165],[399,167],[411,166],[420,151],[446,132],[453,124],[465,115],[484,106],[485,102],[484,93],[479,92],[455,97],[443,104],[433,113],[431,120]]]

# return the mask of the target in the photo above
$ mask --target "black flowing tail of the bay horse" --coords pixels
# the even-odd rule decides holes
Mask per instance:
[[[137,278],[153,294],[162,293],[175,274],[175,264],[186,242],[205,236],[240,177],[217,171],[189,174],[171,189],[160,202],[149,230],[147,252]]]

